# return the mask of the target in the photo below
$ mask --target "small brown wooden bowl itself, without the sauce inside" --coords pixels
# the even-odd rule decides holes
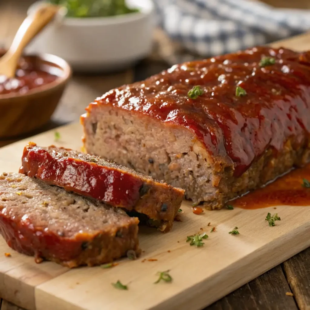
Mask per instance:
[[[4,51],[0,51],[0,55],[3,54]],[[69,64],[55,55],[27,55],[23,61],[30,61],[35,69],[56,74],[58,78],[24,95],[0,94],[0,139],[24,135],[46,124],[71,76]]]

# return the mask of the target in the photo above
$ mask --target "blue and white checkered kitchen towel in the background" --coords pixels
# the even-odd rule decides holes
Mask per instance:
[[[154,3],[158,23],[166,34],[187,51],[204,57],[310,30],[310,10],[280,10],[259,1],[154,0]],[[190,57],[184,54],[183,59],[169,62]]]

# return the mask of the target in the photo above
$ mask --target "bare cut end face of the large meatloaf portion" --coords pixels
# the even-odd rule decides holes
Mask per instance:
[[[209,154],[186,128],[170,126],[140,113],[93,105],[84,125],[87,153],[103,156],[174,187],[193,202],[220,198],[220,177]]]

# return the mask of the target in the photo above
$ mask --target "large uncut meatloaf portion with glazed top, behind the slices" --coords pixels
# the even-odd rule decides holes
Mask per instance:
[[[86,111],[88,153],[221,208],[309,160],[310,52],[255,47],[175,65]]]

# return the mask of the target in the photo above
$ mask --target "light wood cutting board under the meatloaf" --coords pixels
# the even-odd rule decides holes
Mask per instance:
[[[310,34],[274,44],[279,45],[310,49]],[[49,131],[1,148],[0,172],[18,170],[29,140],[80,149],[78,123],[58,131],[61,141],[57,143],[54,131]],[[0,237],[0,297],[29,310],[200,309],[310,246],[310,206],[235,208],[194,215],[185,201],[182,209],[183,222],[175,222],[169,233],[141,227],[142,256],[135,261],[122,259],[110,269],[36,264],[33,257],[11,250]],[[268,212],[281,217],[275,227],[265,221]],[[216,231],[210,232],[213,226]],[[228,234],[235,226],[240,234]],[[202,231],[209,235],[203,247],[186,243],[188,235]],[[12,256],[5,257],[5,252]],[[156,273],[168,269],[172,283],[154,284]],[[117,280],[129,290],[113,288],[111,283]]]

